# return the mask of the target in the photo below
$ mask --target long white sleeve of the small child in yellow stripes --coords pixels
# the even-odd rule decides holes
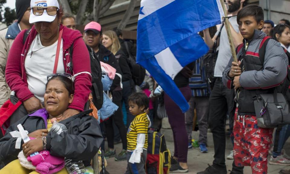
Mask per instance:
[[[145,144],[145,134],[137,134],[137,146],[136,149],[131,154],[129,163],[140,163],[141,153],[143,152],[144,144]]]

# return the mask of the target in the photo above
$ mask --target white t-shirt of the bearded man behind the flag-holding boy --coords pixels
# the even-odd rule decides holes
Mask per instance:
[[[237,24],[237,16],[229,18],[229,21],[230,21],[230,24],[232,24],[232,26],[234,27],[235,31],[239,33],[240,31],[239,31],[239,25]],[[216,33],[216,35],[218,35],[218,32]],[[224,69],[229,63],[231,56],[232,56],[232,52],[230,51],[230,42],[227,37],[226,27],[224,26],[221,29],[220,45],[218,47],[218,58],[214,67],[215,77],[223,76]]]

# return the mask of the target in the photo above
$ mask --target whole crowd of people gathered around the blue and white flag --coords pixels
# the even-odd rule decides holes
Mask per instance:
[[[232,57],[224,24],[200,31],[210,48],[205,56],[216,53],[212,57],[216,61],[211,69],[212,77],[203,56],[185,66],[173,79],[190,105],[182,113],[149,72],[146,71],[142,84],[136,85],[129,62],[130,56],[136,57],[136,47],[124,40],[121,30],[103,31],[98,22],[91,21],[81,33],[76,30],[75,17],[63,14],[57,0],[45,2],[45,6],[37,3],[37,0],[16,0],[17,21],[0,31],[1,111],[8,104],[17,105],[9,120],[0,125],[3,133],[0,173],[42,171],[43,164],[36,169],[27,168],[20,157],[20,154],[30,156],[27,159],[33,162],[31,154],[36,152],[58,156],[62,161],[83,161],[87,172],[92,173],[90,160],[99,148],[105,151],[106,158],[127,160],[126,174],[145,173],[148,133],[159,131],[160,121],[165,117],[174,140],[170,172],[188,172],[195,116],[200,152],[208,152],[208,128],[214,142],[213,163],[198,174],[227,174],[227,119],[233,144],[227,156],[234,159],[231,174],[243,174],[244,166],[251,166],[253,174],[266,174],[268,154],[269,164],[290,166],[290,157],[283,149],[290,136],[290,125],[283,125],[279,132],[258,127],[252,98],[252,93],[271,93],[287,76],[290,58],[287,19],[275,25],[271,20],[264,21],[263,9],[248,5],[248,0],[226,1],[238,62]],[[266,36],[272,39],[267,40],[261,61],[259,53]],[[116,111],[105,120],[97,120],[87,111],[93,88],[92,59],[87,46],[101,65],[107,67],[106,75],[111,80],[104,95],[111,99]],[[53,118],[66,125],[67,131],[60,134],[50,131]],[[30,141],[24,143],[14,136],[18,124],[28,131]],[[271,148],[273,131],[276,131],[274,138],[279,137],[274,142],[277,150]],[[122,143],[120,152],[115,150],[116,143]],[[45,165],[51,163],[50,157],[42,158]],[[55,164],[48,170],[68,173],[64,165],[64,162]],[[279,173],[290,174],[290,170]]]

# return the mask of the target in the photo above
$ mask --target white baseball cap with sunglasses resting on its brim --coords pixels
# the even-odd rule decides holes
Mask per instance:
[[[31,11],[30,11],[30,17],[29,17],[29,23],[34,23],[34,22],[52,22],[56,15],[49,15],[47,14],[47,11],[44,10],[43,11],[43,14],[42,15],[34,15],[33,14],[33,11],[32,11],[32,8],[33,7],[44,7],[44,8],[47,8],[47,7],[57,7],[58,10],[60,9],[60,5],[58,4],[57,0],[31,0],[30,2],[30,8],[31,8]]]

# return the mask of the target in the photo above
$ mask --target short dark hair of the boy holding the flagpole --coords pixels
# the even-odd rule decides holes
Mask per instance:
[[[264,11],[263,8],[256,4],[250,4],[246,7],[243,7],[237,15],[237,22],[240,21],[241,18],[247,17],[247,16],[253,16],[257,23],[264,20]]]

